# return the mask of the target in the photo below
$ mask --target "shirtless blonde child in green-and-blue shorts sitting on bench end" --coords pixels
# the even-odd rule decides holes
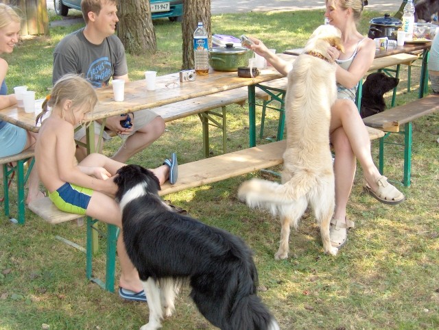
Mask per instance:
[[[95,90],[80,75],[64,75],[56,82],[50,97],[43,102],[43,112],[47,112],[48,106],[52,110],[38,133],[36,168],[58,209],[92,216],[122,230],[121,211],[114,199],[117,186],[112,176],[125,164],[100,153],[87,155],[79,164],[75,158],[74,129],[78,124],[84,125],[85,114],[93,112],[96,103]],[[119,294],[126,294],[126,299],[146,301],[121,233],[117,255],[121,265]]]

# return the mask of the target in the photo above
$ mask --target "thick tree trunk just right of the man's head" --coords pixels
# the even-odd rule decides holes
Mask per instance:
[[[156,53],[156,31],[152,25],[150,0],[119,2],[117,34],[127,53]]]

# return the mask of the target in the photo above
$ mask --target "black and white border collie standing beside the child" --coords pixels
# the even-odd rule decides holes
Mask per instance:
[[[174,312],[182,283],[201,314],[222,330],[277,330],[257,296],[257,269],[241,238],[174,212],[150,170],[123,166],[114,181],[122,212],[123,242],[137,268],[150,309],[141,330],[161,327]]]

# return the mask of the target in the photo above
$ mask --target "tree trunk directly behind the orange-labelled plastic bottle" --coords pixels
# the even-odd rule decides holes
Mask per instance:
[[[193,61],[193,31],[198,22],[202,22],[209,35],[209,47],[212,45],[211,34],[211,0],[185,0],[183,20],[181,23],[183,49],[182,69],[194,67]]]

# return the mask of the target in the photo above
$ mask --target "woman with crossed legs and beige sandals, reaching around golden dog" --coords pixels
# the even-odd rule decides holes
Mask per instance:
[[[337,62],[337,101],[331,108],[330,134],[335,150],[335,211],[331,220],[331,244],[338,248],[347,241],[347,229],[354,223],[346,217],[346,205],[355,177],[356,160],[364,172],[364,188],[378,201],[385,204],[399,204],[404,195],[388,183],[379,173],[370,153],[370,140],[363,120],[355,105],[358,82],[372,64],[375,56],[375,42],[357,31],[357,21],[364,8],[361,0],[327,0],[324,16],[329,24],[342,31],[345,53],[334,47],[329,54]],[[251,38],[251,37],[250,37]],[[292,69],[277,55],[270,53],[261,40],[251,38],[250,48],[262,55],[279,73],[287,75]],[[294,64],[293,64],[294,65]]]

